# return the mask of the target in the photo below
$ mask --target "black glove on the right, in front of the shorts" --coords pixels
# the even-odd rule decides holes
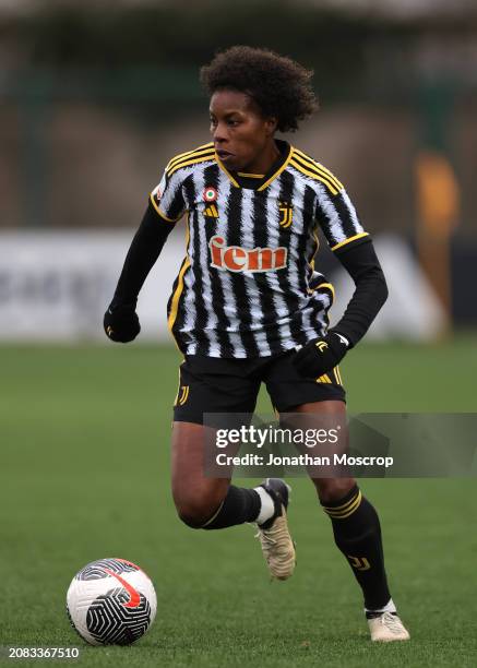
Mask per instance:
[[[291,359],[298,373],[306,378],[320,378],[338,365],[348,350],[348,339],[337,332],[307,343]]]

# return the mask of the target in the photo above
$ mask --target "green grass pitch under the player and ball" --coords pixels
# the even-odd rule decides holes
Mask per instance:
[[[350,409],[476,411],[476,344],[361,345],[343,365]],[[413,636],[372,646],[307,480],[291,481],[287,583],[269,581],[251,526],[201,533],[176,518],[177,363],[169,347],[0,347],[0,645],[81,646],[82,666],[477,666],[476,480],[361,481]],[[154,580],[156,623],[135,646],[87,647],[65,591],[111,556]]]

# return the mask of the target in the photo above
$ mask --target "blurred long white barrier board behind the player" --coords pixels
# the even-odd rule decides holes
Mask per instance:
[[[0,235],[0,339],[103,339],[109,303],[133,231],[7,232]],[[390,286],[390,299],[370,337],[433,338],[442,311],[398,238],[377,240]],[[166,307],[184,257],[182,235],[174,234],[151,272],[139,299],[140,341],[170,341]],[[343,273],[332,277],[339,319],[353,294]]]

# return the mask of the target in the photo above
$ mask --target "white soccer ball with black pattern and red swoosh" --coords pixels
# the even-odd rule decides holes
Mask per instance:
[[[67,594],[71,625],[91,645],[130,645],[154,621],[154,585],[126,559],[99,559],[81,569]]]

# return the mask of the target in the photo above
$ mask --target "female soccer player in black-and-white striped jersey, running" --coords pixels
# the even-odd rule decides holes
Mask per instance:
[[[338,363],[387,296],[371,238],[343,184],[275,136],[297,130],[315,110],[311,75],[288,58],[242,46],[202,68],[213,141],[167,165],[104,322],[110,339],[135,338],[139,291],[187,212],[187,255],[168,303],[169,329],[184,356],[174,408],[174,500],[194,528],[257,523],[270,571],[281,580],[296,561],[289,488],[276,478],[241,489],[206,477],[203,414],[253,413],[264,382],[278,413],[343,417]],[[314,272],[319,227],[356,284],[333,329],[332,287]],[[374,508],[353,478],[313,484],[362,589],[371,640],[407,640],[387,588]]]

